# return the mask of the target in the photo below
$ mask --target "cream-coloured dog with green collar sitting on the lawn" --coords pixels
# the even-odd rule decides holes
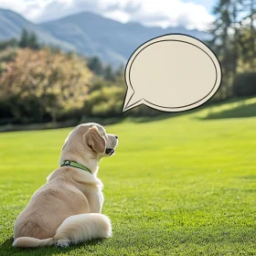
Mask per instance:
[[[69,133],[60,167],[16,219],[13,246],[67,247],[111,237],[111,221],[101,214],[102,183],[97,172],[101,157],[113,155],[117,144],[117,136],[98,123],[80,124]]]

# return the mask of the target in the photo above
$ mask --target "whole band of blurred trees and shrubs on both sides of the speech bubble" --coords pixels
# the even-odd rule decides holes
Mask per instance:
[[[219,57],[223,80],[210,102],[256,96],[255,10],[255,0],[219,0],[214,8],[205,43]],[[124,67],[40,45],[26,29],[0,42],[0,124],[120,118],[125,91]],[[123,116],[158,113],[142,105]]]

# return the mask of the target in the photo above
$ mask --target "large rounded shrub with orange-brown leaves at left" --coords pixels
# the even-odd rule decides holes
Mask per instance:
[[[40,120],[42,108],[53,122],[63,112],[80,110],[91,85],[84,61],[48,49],[18,49],[16,58],[2,66],[0,98],[12,96],[13,113],[22,122],[29,116]]]

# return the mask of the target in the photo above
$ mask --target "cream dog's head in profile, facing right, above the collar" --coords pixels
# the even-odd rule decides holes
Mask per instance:
[[[117,144],[117,135],[106,133],[100,124],[83,123],[69,133],[62,147],[62,155],[100,160],[101,157],[113,155]]]

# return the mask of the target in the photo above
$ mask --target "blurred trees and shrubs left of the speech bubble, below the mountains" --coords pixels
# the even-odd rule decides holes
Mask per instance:
[[[20,40],[0,44],[0,123],[77,122],[119,118],[126,85],[124,67],[112,69],[101,59],[39,46],[23,30]],[[127,115],[158,112],[141,106]]]

